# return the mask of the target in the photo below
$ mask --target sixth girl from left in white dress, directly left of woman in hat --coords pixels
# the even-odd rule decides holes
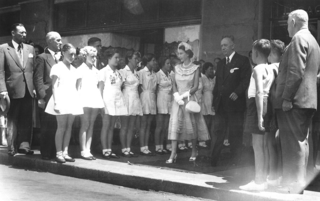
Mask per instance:
[[[163,141],[165,133],[168,131],[171,101],[172,101],[172,78],[170,72],[172,66],[170,65],[170,58],[162,56],[159,58],[159,65],[161,69],[156,73],[157,76],[157,109],[156,114],[156,130],[155,130],[155,144],[156,154],[163,155],[169,154],[169,152],[163,148]],[[167,144],[171,144],[171,141],[167,141]]]

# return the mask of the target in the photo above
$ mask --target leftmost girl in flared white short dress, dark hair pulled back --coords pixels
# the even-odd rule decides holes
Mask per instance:
[[[74,60],[76,49],[71,44],[66,44],[61,50],[62,61],[52,66],[50,78],[52,79],[52,96],[45,109],[46,113],[56,115],[58,128],[55,136],[58,163],[75,162],[68,156],[68,146],[71,137],[72,123],[75,115],[83,114],[79,102],[76,85],[79,78],[76,68],[70,63]]]

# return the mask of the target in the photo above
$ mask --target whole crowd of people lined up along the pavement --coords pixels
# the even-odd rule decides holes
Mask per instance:
[[[243,134],[250,134],[255,179],[239,188],[263,191],[282,184],[282,192],[301,193],[307,180],[308,128],[317,108],[320,48],[308,30],[305,11],[290,13],[288,31],[292,41],[286,48],[280,40],[259,39],[249,58],[234,51],[232,36],[223,37],[225,57],[210,63],[193,61],[192,47],[184,42],[177,55],[141,57],[127,51],[120,58],[116,48],[103,48],[100,38],[90,38],[79,49],[61,47],[57,32],[47,33],[44,50],[23,43],[26,30],[14,24],[12,42],[0,48],[0,97],[11,102],[8,155],[33,154],[29,141],[36,97],[44,160],[75,161],[68,146],[76,115],[81,159],[95,160],[90,149],[98,114],[101,156],[120,157],[112,151],[120,117],[121,156],[138,157],[131,146],[139,117],[142,156],[170,154],[166,163],[174,163],[179,151],[189,150],[193,162],[197,147],[211,144],[210,163],[216,166],[223,146],[230,143],[232,164],[237,165]],[[154,118],[156,148],[149,150]]]

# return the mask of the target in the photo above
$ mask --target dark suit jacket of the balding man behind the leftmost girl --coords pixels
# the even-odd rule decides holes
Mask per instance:
[[[48,49],[46,49],[44,53],[36,56],[35,70],[33,71],[33,84],[38,99],[52,96],[52,79],[50,78],[50,71],[54,64],[56,64],[56,62]]]

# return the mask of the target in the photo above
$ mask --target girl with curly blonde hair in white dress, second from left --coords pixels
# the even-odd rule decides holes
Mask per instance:
[[[93,64],[97,60],[97,50],[92,46],[85,46],[80,50],[79,57],[83,60],[77,72],[80,78],[80,99],[84,114],[81,115],[81,127],[79,131],[79,142],[81,158],[84,160],[95,160],[90,153],[90,146],[93,133],[93,125],[96,120],[99,108],[104,107],[104,103],[98,89],[99,70]]]

